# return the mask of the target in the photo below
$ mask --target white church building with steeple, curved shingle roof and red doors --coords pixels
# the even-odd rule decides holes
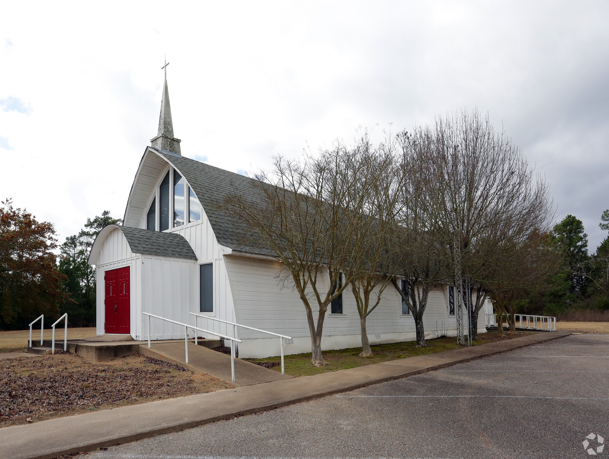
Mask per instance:
[[[97,334],[147,340],[143,312],[194,325],[193,312],[292,336],[286,354],[311,352],[305,307],[297,293],[277,282],[280,263],[244,246],[243,224],[222,210],[225,196],[256,193],[254,180],[181,155],[166,79],[158,135],[150,142],[133,180],[123,225],[105,227],[91,249],[89,263],[97,273]],[[426,338],[456,336],[452,297],[448,286],[429,295]],[[479,333],[486,331],[485,312],[492,313],[490,302],[481,310]],[[183,327],[160,319],[151,323],[152,340],[184,338]],[[233,327],[221,322],[199,319],[199,327],[233,335]],[[367,329],[370,344],[415,340],[412,315],[391,285],[368,316]],[[189,332],[194,336],[194,330]],[[270,335],[238,329],[236,337],[242,340],[239,357],[280,354],[279,340]],[[359,315],[347,289],[326,315],[322,348],[359,346]]]

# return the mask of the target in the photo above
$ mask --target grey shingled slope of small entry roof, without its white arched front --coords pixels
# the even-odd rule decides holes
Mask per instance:
[[[164,233],[141,228],[119,226],[125,239],[136,254],[196,260],[188,241],[177,233]]]

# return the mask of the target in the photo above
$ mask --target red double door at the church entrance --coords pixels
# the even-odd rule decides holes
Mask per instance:
[[[105,281],[105,333],[128,335],[131,333],[129,267],[106,271]]]

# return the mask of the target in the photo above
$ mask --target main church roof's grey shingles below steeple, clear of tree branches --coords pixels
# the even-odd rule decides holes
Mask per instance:
[[[269,255],[269,249],[246,244],[245,235],[256,237],[247,224],[229,215],[224,210],[224,199],[231,194],[241,194],[248,200],[261,202],[264,199],[255,179],[235,174],[206,163],[185,158],[149,147],[171,163],[191,185],[197,199],[203,206],[219,244],[238,251]],[[250,239],[250,238],[248,238]],[[251,240],[251,239],[250,239]]]

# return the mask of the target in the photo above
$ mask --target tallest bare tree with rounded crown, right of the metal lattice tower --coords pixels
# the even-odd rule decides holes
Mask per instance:
[[[533,230],[547,230],[553,217],[549,188],[507,134],[495,132],[488,115],[464,111],[438,117],[432,138],[441,192],[438,219],[451,235],[453,276],[477,286],[471,311],[472,338],[477,339],[493,263],[504,259],[510,244],[521,243]]]

